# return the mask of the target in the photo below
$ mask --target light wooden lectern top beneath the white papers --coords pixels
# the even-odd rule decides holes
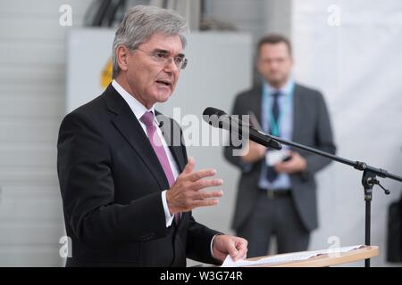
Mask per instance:
[[[300,253],[294,254],[304,254],[309,253],[309,251],[303,251]],[[270,263],[270,264],[258,264],[258,265],[246,265],[244,267],[328,267],[331,265],[343,265],[348,264],[360,260],[364,260],[366,258],[372,258],[374,256],[379,256],[380,249],[378,246],[363,246],[361,248],[356,248],[350,250],[348,252],[341,253],[331,253],[331,254],[323,254],[318,256],[313,256],[305,260],[296,260],[296,261],[288,261],[282,263]],[[289,254],[284,254],[289,255]],[[284,256],[284,255],[276,255],[276,256]],[[247,261],[257,261],[268,256],[260,256],[254,258],[247,258]],[[269,256],[271,257],[271,256]]]

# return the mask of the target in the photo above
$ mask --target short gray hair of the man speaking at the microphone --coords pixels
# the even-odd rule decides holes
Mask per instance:
[[[177,12],[154,6],[137,5],[126,12],[113,40],[113,78],[120,72],[117,47],[125,45],[134,50],[157,32],[166,36],[179,36],[184,48],[187,43],[185,35],[188,33],[188,22]]]

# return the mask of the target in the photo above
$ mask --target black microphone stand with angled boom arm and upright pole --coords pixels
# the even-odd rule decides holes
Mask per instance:
[[[263,133],[264,134],[264,133]],[[363,176],[362,176],[362,185],[364,188],[364,200],[365,200],[365,245],[366,246],[370,246],[371,240],[370,240],[370,236],[371,236],[371,202],[373,199],[373,186],[375,184],[380,185],[380,187],[383,189],[383,191],[385,192],[385,194],[389,195],[389,190],[385,189],[384,187],[382,187],[380,181],[377,179],[377,176],[380,176],[382,178],[391,178],[393,180],[402,182],[402,177],[398,176],[398,175],[393,175],[390,174],[388,171],[381,169],[381,168],[376,168],[376,167],[371,167],[369,165],[367,165],[365,162],[361,162],[361,161],[352,161],[349,159],[343,159],[340,158],[336,155],[333,155],[331,153],[325,152],[325,151],[320,151],[311,147],[308,147],[306,145],[297,143],[297,142],[290,142],[284,139],[281,139],[280,137],[276,137],[274,135],[271,134],[264,134],[264,136],[267,137],[267,139],[270,140],[275,140],[287,145],[291,145],[296,147],[297,149],[301,149],[301,150],[305,150],[305,151],[309,151],[315,154],[318,154],[322,157],[328,158],[328,159],[332,159],[335,160],[339,163],[348,165],[350,167],[354,167],[357,170],[363,171]],[[370,258],[367,258],[364,260],[364,265],[365,267],[370,267]]]

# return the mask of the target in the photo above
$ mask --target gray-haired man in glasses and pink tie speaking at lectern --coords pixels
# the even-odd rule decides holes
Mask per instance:
[[[222,179],[212,168],[194,170],[180,137],[174,140],[180,126],[155,110],[186,67],[187,32],[176,12],[132,7],[114,38],[113,82],[63,119],[57,168],[71,238],[67,266],[185,266],[186,257],[219,264],[228,254],[246,256],[247,240],[192,216],[193,208],[216,205],[222,191],[201,190]]]

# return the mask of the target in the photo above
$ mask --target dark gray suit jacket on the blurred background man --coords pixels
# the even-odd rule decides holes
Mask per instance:
[[[262,86],[255,86],[255,88],[237,96],[232,114],[247,115],[249,111],[253,111],[255,117],[261,122],[261,109]],[[292,141],[335,153],[330,118],[322,94],[302,85],[295,85],[294,90]],[[328,165],[330,160],[307,151],[293,150],[306,159],[307,169],[304,173],[290,175],[293,190],[292,197],[306,230],[312,231],[318,226],[314,173]],[[235,230],[239,230],[251,214],[251,210],[255,207],[255,201],[258,198],[258,180],[261,166],[265,163],[265,160],[257,161],[252,169],[246,172],[240,157],[232,155],[230,146],[225,148],[224,155],[226,159],[242,170],[232,222],[232,227]]]

